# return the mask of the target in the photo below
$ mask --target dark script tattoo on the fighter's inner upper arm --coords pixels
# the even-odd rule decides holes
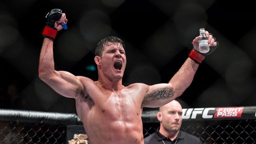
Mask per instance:
[[[174,96],[174,91],[172,87],[163,87],[153,90],[148,97],[153,100],[168,99]]]

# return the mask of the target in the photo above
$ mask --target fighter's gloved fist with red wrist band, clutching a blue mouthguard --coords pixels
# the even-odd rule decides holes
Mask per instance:
[[[56,34],[63,27],[61,23],[67,23],[66,14],[62,13],[60,9],[52,9],[45,16],[46,26],[43,30],[42,36],[50,38],[52,40],[55,39]]]

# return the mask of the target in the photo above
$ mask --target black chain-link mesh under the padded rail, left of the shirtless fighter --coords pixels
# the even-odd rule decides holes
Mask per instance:
[[[0,144],[63,144],[65,125],[0,122]]]

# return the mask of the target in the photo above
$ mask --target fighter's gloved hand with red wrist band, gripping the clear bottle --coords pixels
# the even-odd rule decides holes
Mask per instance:
[[[210,47],[210,51],[205,54],[199,52],[198,41],[200,40],[200,36],[198,36],[192,41],[194,48],[188,55],[191,59],[193,59],[198,64],[200,64],[204,60],[205,56],[210,55],[219,46],[219,43],[216,41],[216,38],[213,37],[211,33],[209,33],[208,31],[205,31],[205,36],[206,38],[208,38],[208,45]]]

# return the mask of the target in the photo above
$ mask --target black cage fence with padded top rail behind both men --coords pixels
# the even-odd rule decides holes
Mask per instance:
[[[255,144],[256,107],[242,108],[230,108],[233,115],[220,112],[223,108],[183,109],[181,130],[204,144]],[[160,126],[156,114],[143,111],[144,137]],[[74,133],[70,126],[83,129],[76,114],[0,109],[0,144],[66,144]]]

